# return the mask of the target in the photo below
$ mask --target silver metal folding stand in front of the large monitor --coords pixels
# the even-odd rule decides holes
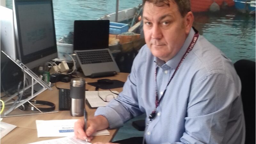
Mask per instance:
[[[51,111],[51,112],[42,112],[42,111],[32,111],[32,110],[26,110],[26,111],[21,111],[17,108],[19,108],[21,105],[23,105],[24,103],[28,102],[30,104],[32,104],[31,102],[29,102],[29,100],[35,98],[38,94],[44,92],[45,90],[49,89],[52,90],[52,88],[50,87],[51,83],[49,82],[49,84],[46,84],[43,80],[42,80],[42,76],[38,77],[35,73],[33,73],[29,68],[27,68],[23,63],[21,63],[19,60],[13,60],[10,56],[8,56],[4,51],[2,51],[9,59],[11,59],[16,65],[18,65],[22,71],[24,70],[24,72],[26,73],[27,76],[31,77],[31,84],[29,84],[28,86],[25,86],[24,91],[26,91],[27,89],[31,89],[31,95],[28,96],[26,99],[20,100],[20,101],[11,101],[13,100],[14,97],[19,96],[20,93],[23,93],[23,88],[21,89],[20,92],[15,92],[14,94],[12,94],[10,97],[6,98],[6,99],[2,99],[4,101],[4,111],[1,114],[1,117],[11,117],[11,116],[26,116],[26,115],[36,115],[36,114],[45,114],[45,113],[56,113],[58,111]],[[34,92],[34,88],[37,88],[36,92]],[[23,86],[22,86],[23,87]],[[19,98],[17,98],[18,100]],[[8,107],[10,106],[10,107]],[[35,105],[32,104],[33,107],[36,108]],[[2,104],[1,104],[2,107]],[[38,109],[38,108],[36,108]]]

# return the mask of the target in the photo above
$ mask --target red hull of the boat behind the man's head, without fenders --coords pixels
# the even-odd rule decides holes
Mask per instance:
[[[225,3],[228,7],[234,6],[233,0],[190,0],[192,12],[207,12],[213,3],[220,7]]]

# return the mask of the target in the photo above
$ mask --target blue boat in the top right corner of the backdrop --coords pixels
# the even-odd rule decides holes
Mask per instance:
[[[234,0],[239,12],[255,14],[255,0]]]

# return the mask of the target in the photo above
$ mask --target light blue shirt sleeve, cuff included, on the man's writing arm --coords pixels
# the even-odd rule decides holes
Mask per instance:
[[[94,114],[95,116],[105,116],[108,119],[109,128],[121,127],[124,122],[142,114],[138,106],[135,73],[135,66],[133,65],[131,74],[118,98],[109,102],[106,107],[99,107]]]

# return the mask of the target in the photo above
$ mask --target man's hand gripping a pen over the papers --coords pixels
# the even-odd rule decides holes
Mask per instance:
[[[77,139],[91,141],[93,133],[106,128],[108,128],[107,118],[99,115],[87,121],[86,132],[84,132],[84,119],[77,120],[74,126],[74,132]]]

